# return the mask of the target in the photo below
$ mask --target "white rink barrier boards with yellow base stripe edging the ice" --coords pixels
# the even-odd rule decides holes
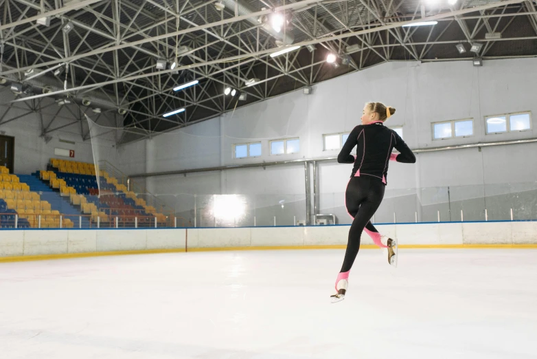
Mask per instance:
[[[0,260],[226,249],[343,248],[350,226],[0,230]],[[537,248],[537,221],[378,224],[402,248]],[[373,241],[364,232],[363,248]]]

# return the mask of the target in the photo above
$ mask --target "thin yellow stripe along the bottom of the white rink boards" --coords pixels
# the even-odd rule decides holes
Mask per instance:
[[[325,246],[257,246],[257,247],[214,247],[214,248],[188,248],[188,252],[218,252],[233,250],[321,250],[321,249],[345,249],[345,245]],[[537,244],[402,244],[402,249],[537,249]],[[374,244],[363,244],[360,249],[378,249]],[[88,252],[66,254],[42,254],[37,256],[0,257],[2,262],[23,261],[46,261],[49,259],[69,259],[84,257],[121,256],[130,254],[161,254],[181,253],[181,249],[157,249],[157,250],[117,250],[113,252]]]

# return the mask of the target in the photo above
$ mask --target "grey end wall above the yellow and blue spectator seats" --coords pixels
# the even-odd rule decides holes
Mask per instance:
[[[84,141],[80,135],[81,124],[73,115],[73,113],[78,113],[78,107],[67,105],[69,109],[65,106],[60,108],[49,99],[43,101],[41,111],[31,112],[22,118],[12,120],[30,111],[22,102],[16,102],[10,108],[9,102],[13,99],[14,96],[8,87],[0,87],[0,118],[2,119],[0,131],[15,138],[15,173],[24,175],[46,169],[50,158],[58,157],[54,155],[56,148],[74,150],[75,157],[71,160],[89,163],[94,162],[93,150],[96,150],[95,155],[99,160],[108,161],[124,173],[146,172],[145,142],[136,142],[129,144],[128,148],[123,146],[116,149],[115,133],[109,132],[110,129],[107,128],[97,131],[104,134],[97,139]],[[114,121],[117,120],[113,113],[103,112],[99,117],[91,111],[88,113],[93,120],[98,119],[98,124],[107,127],[113,127]],[[43,129],[52,130],[58,127],[61,129],[46,134],[46,137],[52,138],[49,142],[41,137]],[[89,127],[86,120],[82,121],[82,129],[84,134],[88,133]],[[74,144],[60,142],[60,139],[74,142]],[[65,159],[69,160],[69,157]]]

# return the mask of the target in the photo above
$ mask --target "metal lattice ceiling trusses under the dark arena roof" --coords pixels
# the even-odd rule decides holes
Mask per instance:
[[[38,113],[50,106],[46,97],[69,96],[77,102],[89,96],[114,118],[117,111],[126,111],[117,123],[121,144],[388,61],[537,55],[534,0],[459,0],[454,5],[442,0],[434,6],[426,0],[238,0],[237,6],[250,9],[246,15],[236,13],[238,7],[219,10],[219,1],[0,0],[0,78],[7,85],[31,85],[0,104],[8,110],[0,127],[22,117],[6,115],[14,104]],[[229,5],[229,0],[223,3]],[[36,23],[40,12],[51,17],[48,27]],[[277,36],[263,21],[249,19],[275,12],[289,20],[283,36],[292,33],[293,43],[302,46],[273,58],[269,55],[277,51]],[[437,24],[402,27],[424,19]],[[71,30],[65,31],[66,25]],[[492,33],[499,35],[487,35]],[[472,43],[483,45],[479,54],[470,52]],[[465,53],[459,54],[458,44]],[[339,67],[326,63],[329,53],[339,56]],[[179,65],[157,70],[158,60]],[[58,68],[62,71],[54,74]],[[32,69],[43,72],[43,83],[52,84],[52,91],[43,94],[27,80],[25,72]],[[254,78],[255,85],[248,87]],[[194,79],[200,83],[172,90]],[[226,96],[225,87],[246,98]],[[163,117],[179,108],[185,111]],[[60,125],[41,118],[43,134],[80,123],[86,140],[82,119],[87,110],[78,106],[71,120]],[[106,116],[92,118],[101,117]]]

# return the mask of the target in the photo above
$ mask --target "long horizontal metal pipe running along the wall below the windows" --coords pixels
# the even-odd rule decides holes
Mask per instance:
[[[431,149],[413,149],[413,153],[425,153],[425,152],[437,152],[437,151],[448,151],[454,149],[472,149],[475,147],[489,147],[489,146],[504,146],[507,144],[524,144],[524,143],[534,143],[537,142],[537,138],[529,138],[527,140],[512,140],[512,141],[500,141],[500,142],[483,142],[475,144],[459,144],[457,146],[444,146],[444,147],[433,147]],[[141,178],[141,177],[156,177],[156,176],[165,176],[165,175],[185,175],[188,173],[198,173],[198,172],[211,172],[211,171],[224,171],[231,169],[239,168],[255,168],[255,167],[268,167],[268,166],[283,166],[288,164],[306,164],[308,162],[330,162],[336,161],[337,157],[319,157],[319,158],[306,158],[302,160],[289,160],[289,161],[275,161],[275,162],[259,162],[259,163],[250,163],[250,164],[231,164],[229,166],[216,166],[216,167],[205,167],[205,168],[192,168],[179,171],[165,171],[165,172],[150,172],[150,173],[137,173],[135,175],[130,175],[130,178]]]

